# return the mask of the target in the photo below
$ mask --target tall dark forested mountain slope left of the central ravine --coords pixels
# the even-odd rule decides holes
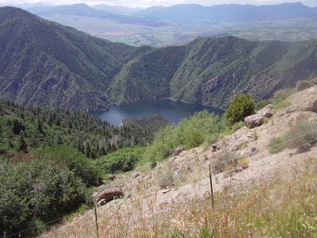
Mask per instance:
[[[112,43],[0,8],[0,97],[28,106],[107,109],[104,91],[122,66],[147,47]]]

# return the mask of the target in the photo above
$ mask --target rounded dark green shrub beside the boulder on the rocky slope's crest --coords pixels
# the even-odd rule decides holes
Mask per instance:
[[[224,117],[227,124],[230,126],[236,122],[244,120],[245,117],[252,115],[254,112],[255,105],[253,98],[249,94],[241,94],[232,99]]]

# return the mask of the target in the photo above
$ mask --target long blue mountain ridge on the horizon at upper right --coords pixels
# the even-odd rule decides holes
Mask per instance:
[[[317,7],[308,7],[300,2],[260,6],[250,4],[221,4],[213,6],[178,4],[170,7],[150,7],[134,14],[169,20],[174,23],[199,21],[260,22],[297,17],[316,17]]]

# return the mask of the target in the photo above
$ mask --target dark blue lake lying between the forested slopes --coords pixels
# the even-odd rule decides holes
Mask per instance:
[[[141,119],[152,115],[161,115],[168,121],[178,125],[182,118],[189,117],[196,111],[214,112],[220,116],[224,111],[217,107],[206,106],[202,104],[190,104],[172,99],[161,99],[152,102],[139,102],[124,106],[112,105],[110,110],[91,111],[89,114],[107,120],[115,126],[121,126],[121,120],[125,118]]]

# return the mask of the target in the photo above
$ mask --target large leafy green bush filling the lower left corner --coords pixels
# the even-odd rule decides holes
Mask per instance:
[[[67,166],[28,154],[0,161],[1,234],[43,227],[87,199],[85,184]]]

